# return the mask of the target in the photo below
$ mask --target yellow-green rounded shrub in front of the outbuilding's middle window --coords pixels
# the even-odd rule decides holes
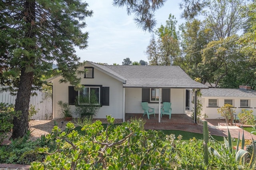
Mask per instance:
[[[224,106],[217,109],[218,113],[226,119],[228,125],[233,125],[235,109],[231,104],[224,104]]]

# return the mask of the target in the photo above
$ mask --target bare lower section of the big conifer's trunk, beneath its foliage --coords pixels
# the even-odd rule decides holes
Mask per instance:
[[[28,109],[33,82],[33,73],[25,72],[22,68],[20,75],[20,85],[15,102],[15,111],[21,111],[18,117],[14,117],[12,139],[23,137],[28,129]]]

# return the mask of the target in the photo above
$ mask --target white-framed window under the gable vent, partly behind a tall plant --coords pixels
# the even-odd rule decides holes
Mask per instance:
[[[78,97],[84,98],[83,104],[86,102],[93,101],[95,104],[100,104],[100,87],[84,87],[83,90],[80,90]]]

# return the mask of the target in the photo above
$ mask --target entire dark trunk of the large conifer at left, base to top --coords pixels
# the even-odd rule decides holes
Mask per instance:
[[[26,0],[24,2],[24,17],[26,18],[25,37],[33,39],[35,37],[35,17],[36,17],[36,2],[35,0]],[[35,44],[34,44],[35,45]],[[34,45],[28,45],[25,49],[31,53],[35,49]],[[27,61],[30,67],[33,68],[34,57],[27,58],[23,56],[23,61]],[[17,98],[15,101],[15,111],[21,113],[14,117],[12,139],[23,137],[28,130],[28,109],[30,102],[31,89],[33,84],[33,72],[26,72],[26,65],[21,66],[20,84],[18,88]]]

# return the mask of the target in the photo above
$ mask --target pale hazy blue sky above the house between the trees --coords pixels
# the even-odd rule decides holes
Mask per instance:
[[[145,54],[152,33],[142,31],[136,26],[133,14],[127,15],[126,8],[112,5],[113,0],[86,0],[88,10],[93,10],[91,18],[86,18],[87,27],[83,31],[89,32],[87,49],[76,48],[76,55],[81,61],[94,63],[117,63],[122,65],[126,58],[130,61],[144,60],[148,62]],[[167,0],[164,6],[155,13],[157,25],[165,25],[169,14],[173,14],[178,25],[184,22],[180,18],[182,10],[179,8],[181,0]]]

